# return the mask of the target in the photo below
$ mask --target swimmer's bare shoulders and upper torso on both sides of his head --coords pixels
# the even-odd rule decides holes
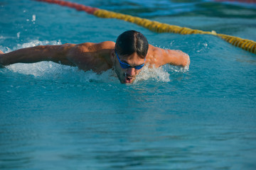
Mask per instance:
[[[73,50],[68,54],[68,60],[73,62],[82,70],[92,69],[94,72],[102,72],[113,67],[110,59],[110,54],[114,50],[115,43],[105,41],[100,43],[85,42],[80,45],[75,45]],[[161,63],[160,48],[149,45],[149,50],[146,55],[146,64],[149,66],[159,67]],[[157,57],[156,57],[157,56]]]

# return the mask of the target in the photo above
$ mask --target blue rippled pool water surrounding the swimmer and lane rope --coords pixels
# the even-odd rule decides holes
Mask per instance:
[[[255,4],[73,2],[256,40]],[[191,57],[189,69],[145,67],[131,85],[53,62],[0,69],[0,169],[256,169],[256,55],[38,1],[1,0],[0,14],[4,52],[135,29]]]

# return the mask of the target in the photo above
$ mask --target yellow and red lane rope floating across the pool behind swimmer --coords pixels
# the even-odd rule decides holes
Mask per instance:
[[[62,1],[62,0],[36,0],[36,1],[48,2],[50,4],[58,4],[60,6],[68,6],[70,8],[75,8],[78,11],[85,11],[86,13],[93,14],[94,16],[97,16],[100,18],[117,18],[119,20],[127,21],[130,23],[135,23],[138,26],[142,26],[142,27],[147,28],[156,33],[178,33],[178,34],[183,34],[183,35],[188,35],[188,34],[215,35],[236,47],[240,47],[243,50],[247,50],[248,52],[252,52],[252,53],[256,54],[256,42],[255,41],[238,38],[238,37],[235,37],[232,35],[219,34],[219,33],[216,33],[214,30],[203,31],[203,30],[194,30],[194,29],[186,28],[186,27],[173,26],[173,25],[169,25],[167,23],[159,23],[157,21],[150,21],[145,18],[129,16],[129,15],[125,15],[122,13],[115,13],[115,12],[107,11],[107,10],[100,9],[100,8],[92,8],[91,6],[76,4],[73,2],[69,2],[69,1]]]

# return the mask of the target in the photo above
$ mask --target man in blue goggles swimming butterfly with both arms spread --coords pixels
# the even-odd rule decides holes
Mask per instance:
[[[149,45],[144,35],[136,30],[125,31],[119,35],[116,43],[38,45],[6,54],[0,50],[0,66],[41,61],[77,66],[85,71],[92,69],[99,73],[114,68],[122,84],[131,84],[145,64],[149,67],[164,64],[188,67],[190,64],[186,53]]]

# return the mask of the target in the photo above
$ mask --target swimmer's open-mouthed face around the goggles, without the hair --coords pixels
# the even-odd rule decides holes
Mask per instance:
[[[121,62],[129,64],[131,67],[127,69],[122,68],[119,60],[117,59],[116,53],[112,52],[112,62],[114,63],[114,70],[117,74],[117,77],[122,84],[131,84],[142,70],[136,69],[134,67],[144,64],[145,60],[139,57],[136,52],[129,56],[118,56]]]

